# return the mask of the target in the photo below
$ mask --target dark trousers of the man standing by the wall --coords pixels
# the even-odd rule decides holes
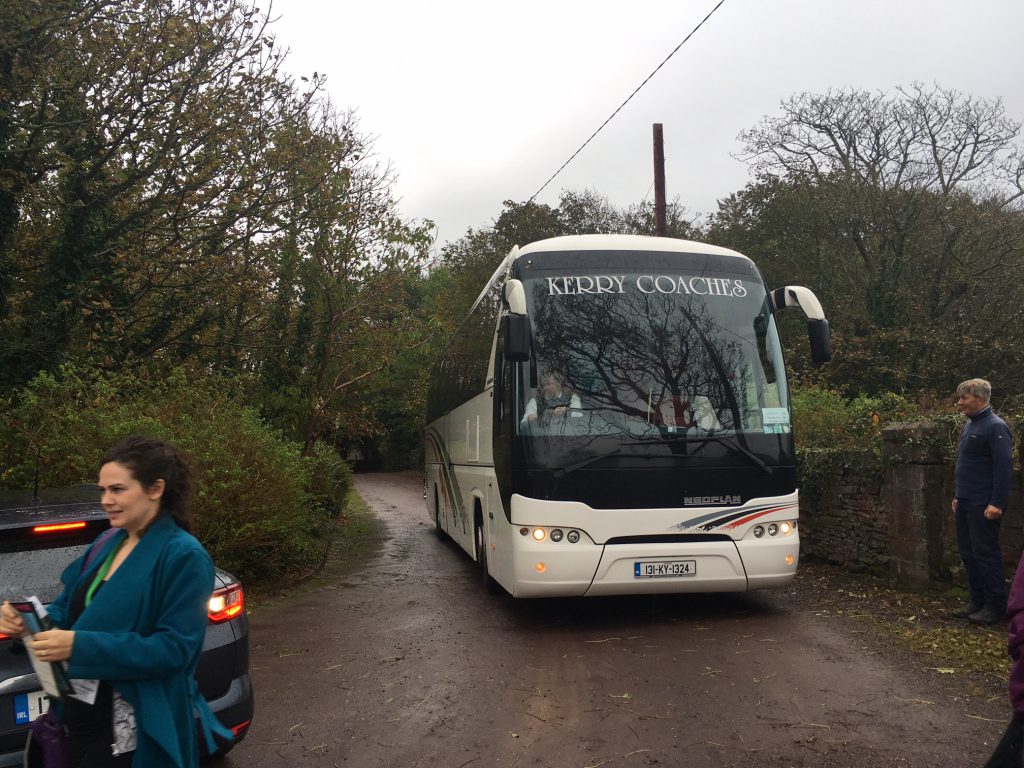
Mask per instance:
[[[986,502],[956,500],[956,544],[967,570],[971,603],[991,608],[1000,616],[1007,610],[1007,585],[999,549],[999,518],[985,517]]]

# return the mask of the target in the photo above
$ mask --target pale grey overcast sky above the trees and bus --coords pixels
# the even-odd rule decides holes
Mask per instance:
[[[273,0],[271,29],[439,246],[529,199],[717,1]],[[1024,0],[725,0],[538,201],[652,198],[662,123],[669,199],[714,212],[749,180],[737,134],[803,91],[922,81],[1024,120],[1022,30]]]

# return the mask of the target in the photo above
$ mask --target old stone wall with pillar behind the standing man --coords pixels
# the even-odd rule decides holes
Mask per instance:
[[[962,583],[947,429],[928,423],[888,427],[881,480],[877,472],[856,469],[866,462],[848,461],[821,501],[801,499],[802,556],[851,570],[886,571],[916,585]],[[1012,575],[1024,547],[1020,473],[1015,473],[1000,543]]]

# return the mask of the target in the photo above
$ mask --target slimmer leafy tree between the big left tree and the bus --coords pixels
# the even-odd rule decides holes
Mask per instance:
[[[353,165],[370,147],[352,125],[327,113],[301,142],[288,224],[267,249],[279,250],[278,273],[289,280],[276,286],[264,384],[301,393],[306,450],[322,436],[373,431],[358,399],[346,403],[346,395],[424,339],[404,294],[426,259],[431,225],[398,217],[386,169]]]

